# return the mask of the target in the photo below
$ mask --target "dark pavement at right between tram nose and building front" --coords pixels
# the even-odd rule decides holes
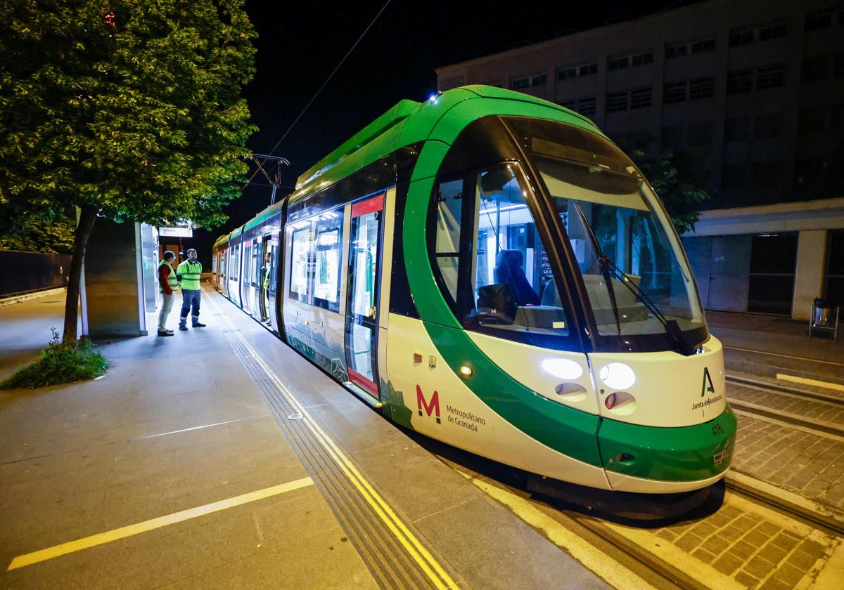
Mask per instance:
[[[728,370],[792,378],[809,387],[815,381],[844,386],[844,324],[838,341],[809,323],[762,314],[707,311],[709,330],[724,345]]]

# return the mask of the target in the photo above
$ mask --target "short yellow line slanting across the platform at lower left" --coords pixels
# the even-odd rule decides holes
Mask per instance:
[[[262,500],[270,496],[278,496],[279,494],[298,490],[313,484],[314,482],[310,477],[303,477],[301,480],[289,481],[286,484],[281,485],[273,485],[273,487],[264,488],[263,490],[250,491],[247,494],[241,494],[241,496],[234,496],[232,498],[220,500],[219,502],[211,502],[210,504],[205,504],[204,506],[188,508],[187,510],[173,512],[172,514],[159,518],[151,518],[150,520],[143,521],[143,523],[130,524],[127,527],[115,528],[107,531],[106,533],[92,534],[89,537],[83,537],[82,539],[76,539],[75,541],[62,543],[40,551],[33,551],[32,553],[27,553],[25,555],[18,555],[8,565],[6,571],[16,570],[19,567],[31,566],[39,561],[51,560],[60,555],[68,555],[68,553],[73,553],[74,551],[80,551],[97,545],[111,543],[111,541],[116,541],[117,539],[125,539],[126,537],[131,537],[135,534],[146,533],[147,531],[154,530],[155,528],[166,527],[169,524],[181,523],[182,521],[189,520],[191,518],[205,516],[206,514],[211,514],[212,512],[219,512],[221,510],[240,506],[241,504],[246,504],[248,502],[256,502],[257,500]]]

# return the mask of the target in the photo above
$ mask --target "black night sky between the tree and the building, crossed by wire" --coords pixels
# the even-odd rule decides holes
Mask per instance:
[[[385,1],[247,0],[258,35],[255,78],[245,91],[252,122],[259,128],[248,143],[254,153],[273,148]],[[427,99],[436,90],[436,67],[686,3],[392,0],[274,152],[290,161],[282,172],[286,188],[278,196],[289,193],[299,174],[400,99]],[[186,247],[197,248],[207,264],[214,239],[268,206],[271,189],[264,183],[258,174],[226,209],[228,223],[197,230]]]

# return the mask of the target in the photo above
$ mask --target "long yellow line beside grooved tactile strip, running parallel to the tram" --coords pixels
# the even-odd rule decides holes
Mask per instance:
[[[213,298],[208,298],[208,301],[214,305],[214,308],[216,308],[218,312],[221,311],[220,308],[217,307],[217,304],[214,303]],[[317,441],[319,441],[320,444],[322,444],[322,447],[326,449],[334,463],[343,470],[346,477],[349,478],[349,481],[352,482],[354,487],[360,492],[360,495],[364,497],[365,501],[376,512],[378,518],[381,518],[381,521],[387,525],[387,528],[390,529],[393,536],[398,539],[404,549],[407,550],[408,555],[414,559],[422,571],[425,572],[425,575],[429,577],[430,581],[438,588],[457,588],[457,582],[448,575],[448,572],[446,572],[440,563],[436,561],[436,558],[430,554],[430,551],[425,548],[425,545],[419,542],[419,539],[417,539],[402,522],[402,520],[398,518],[396,513],[393,512],[392,507],[390,507],[390,505],[372,487],[369,481],[360,474],[360,471],[351,461],[349,461],[349,458],[346,457],[345,453],[338,448],[333,439],[322,430],[322,426],[320,426],[319,423],[311,417],[310,412],[306,410],[305,406],[301,405],[293,392],[291,392],[287,386],[282,383],[273,367],[270,367],[268,363],[263,360],[263,357],[254,348],[252,348],[252,345],[246,341],[246,338],[241,334],[241,332],[237,331],[235,324],[232,324],[228,317],[225,315],[221,315],[220,317],[225,319],[225,322],[229,324],[230,328],[233,330],[232,334],[240,339],[243,346],[246,347],[246,351],[248,351],[252,357],[252,360],[262,367],[264,372],[267,373],[269,378],[282,392],[284,398],[301,414],[302,422],[305,423],[308,429],[315,437],[317,437]]]

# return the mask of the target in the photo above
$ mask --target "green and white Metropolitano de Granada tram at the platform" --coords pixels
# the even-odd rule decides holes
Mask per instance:
[[[538,475],[690,491],[732,460],[677,234],[587,118],[403,100],[214,244],[217,288],[387,418]]]

